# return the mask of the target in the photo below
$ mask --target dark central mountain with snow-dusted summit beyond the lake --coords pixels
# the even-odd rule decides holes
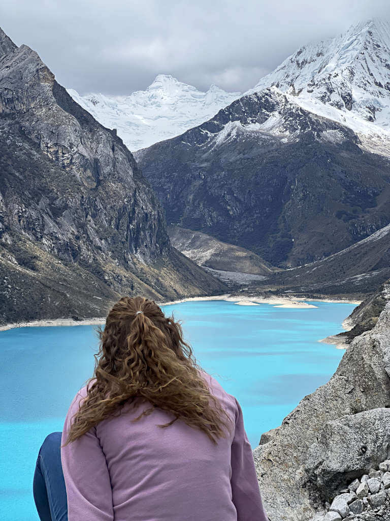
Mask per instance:
[[[273,265],[323,258],[390,221],[388,159],[275,88],[135,157],[168,224],[246,247]]]

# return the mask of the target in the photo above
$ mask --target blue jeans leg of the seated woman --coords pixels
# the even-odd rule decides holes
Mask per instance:
[[[41,521],[68,521],[60,446],[61,432],[52,432],[42,443],[36,460],[33,494]]]

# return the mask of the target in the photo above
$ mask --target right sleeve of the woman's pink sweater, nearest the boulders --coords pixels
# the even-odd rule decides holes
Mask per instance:
[[[237,399],[236,430],[231,444],[232,501],[237,521],[268,521],[258,486],[252,448],[246,436],[242,410]]]

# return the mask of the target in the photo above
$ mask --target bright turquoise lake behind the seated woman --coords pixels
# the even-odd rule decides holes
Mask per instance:
[[[252,448],[298,402],[326,383],[344,350],[318,342],[341,332],[355,305],[316,308],[195,301],[164,306],[183,321],[200,365],[243,410]],[[95,326],[25,327],[0,332],[0,519],[37,521],[32,478],[38,450],[62,430],[73,396],[92,376]]]

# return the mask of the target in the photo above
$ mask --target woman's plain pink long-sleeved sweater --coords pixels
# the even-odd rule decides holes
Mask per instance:
[[[69,521],[267,521],[251,445],[237,399],[210,375],[210,390],[235,419],[217,445],[159,408],[131,423],[136,411],[101,421],[61,449]],[[66,417],[62,443],[84,387]]]

